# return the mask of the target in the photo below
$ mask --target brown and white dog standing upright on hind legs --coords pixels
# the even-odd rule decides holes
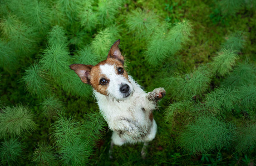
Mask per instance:
[[[124,69],[119,44],[120,39],[111,46],[107,59],[95,66],[72,64],[70,68],[93,87],[100,112],[113,131],[110,158],[114,145],[137,142],[144,142],[141,156],[145,158],[146,146],[157,131],[152,111],[166,92],[163,87],[148,93],[141,89]]]

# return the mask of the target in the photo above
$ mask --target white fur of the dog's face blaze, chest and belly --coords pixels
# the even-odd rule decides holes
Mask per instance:
[[[130,83],[123,76],[116,75],[112,67],[110,65],[100,67],[101,72],[110,79],[107,90],[111,96],[93,91],[102,115],[109,128],[114,131],[112,142],[122,146],[124,143],[152,141],[156,135],[157,125],[155,120],[150,121],[149,115],[155,110],[156,102],[149,100],[150,93],[144,92],[131,76],[129,76]],[[119,100],[121,99],[119,85],[123,82],[130,86],[133,93],[124,100]]]

